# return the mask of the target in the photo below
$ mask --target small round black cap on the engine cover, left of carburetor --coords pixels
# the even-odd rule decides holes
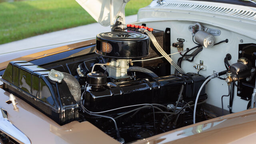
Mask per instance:
[[[100,87],[107,84],[107,75],[102,72],[90,72],[87,74],[86,84],[94,87]]]

